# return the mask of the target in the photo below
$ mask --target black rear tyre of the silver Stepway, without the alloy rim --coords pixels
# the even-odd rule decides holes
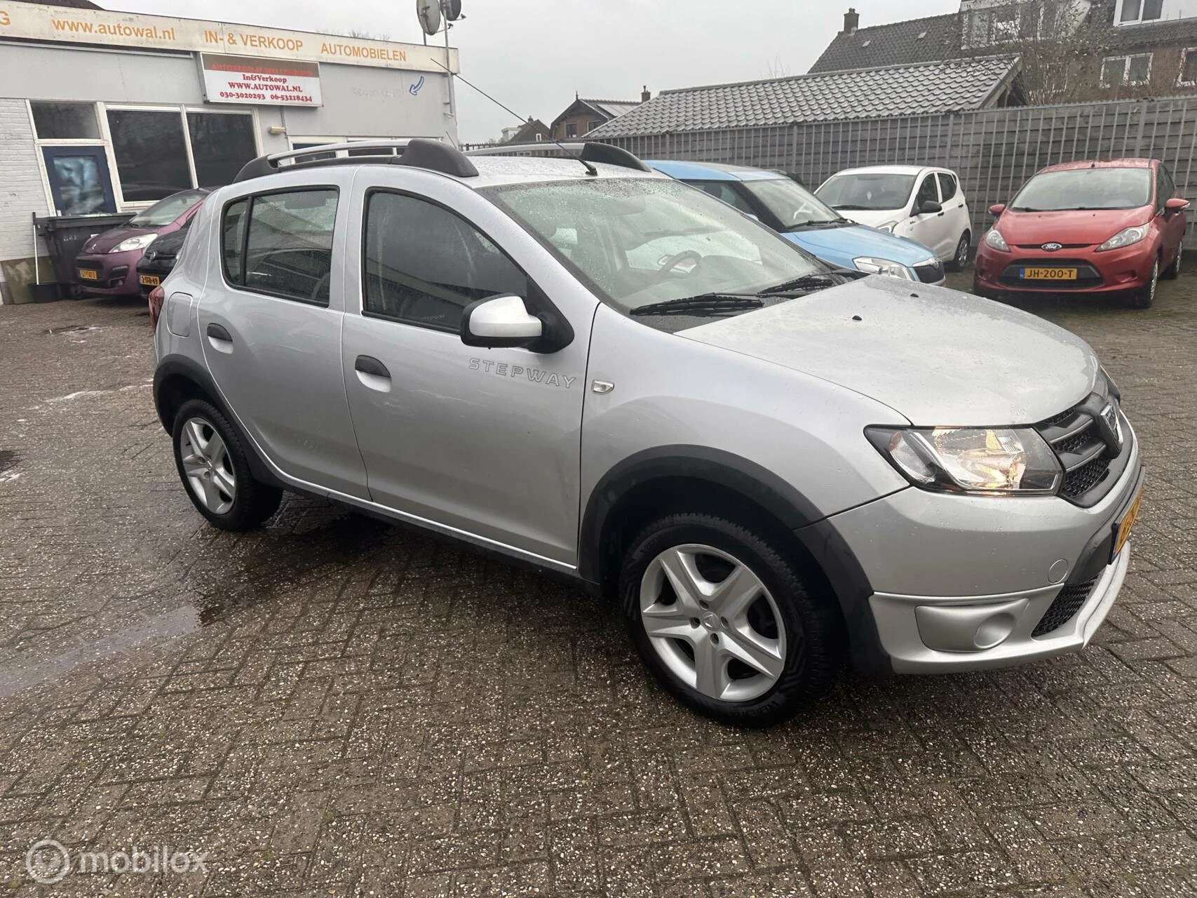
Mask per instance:
[[[227,510],[217,512],[209,509],[196,494],[190,478],[184,471],[183,431],[192,421],[202,421],[202,432],[214,432],[224,442],[226,462],[221,467],[235,484],[235,494],[231,497]],[[183,483],[183,489],[187,491],[188,498],[192,499],[192,504],[213,527],[237,533],[251,530],[278,511],[279,503],[282,500],[282,491],[254,480],[241,436],[229,424],[229,419],[220,413],[220,409],[211,402],[205,402],[201,399],[184,402],[175,415],[171,442],[175,448],[175,468],[178,471],[178,479]]]

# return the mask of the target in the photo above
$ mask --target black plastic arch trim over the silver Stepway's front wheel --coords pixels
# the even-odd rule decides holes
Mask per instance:
[[[730,489],[794,532],[836,591],[849,630],[853,666],[875,676],[893,675],[869,607],[873,587],[847,542],[831,520],[798,490],[767,468],[733,453],[700,445],[666,445],[636,453],[607,472],[590,494],[582,516],[578,574],[584,581],[598,584],[602,580],[603,529],[620,499],[640,484],[678,477]]]

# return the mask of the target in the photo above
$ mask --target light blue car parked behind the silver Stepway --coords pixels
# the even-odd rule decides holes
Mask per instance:
[[[849,222],[776,171],[709,162],[645,159],[644,164],[735,206],[828,265],[943,283],[943,263],[922,243]]]

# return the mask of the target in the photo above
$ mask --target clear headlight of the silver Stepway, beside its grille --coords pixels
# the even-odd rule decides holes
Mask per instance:
[[[1059,461],[1033,430],[868,427],[865,436],[915,486],[967,493],[1053,493]]]

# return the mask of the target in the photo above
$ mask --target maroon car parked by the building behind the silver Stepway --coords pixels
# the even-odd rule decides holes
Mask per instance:
[[[181,190],[135,214],[127,225],[97,233],[75,256],[79,285],[97,296],[140,296],[138,261],[158,237],[177,231],[199,210],[208,190]]]

